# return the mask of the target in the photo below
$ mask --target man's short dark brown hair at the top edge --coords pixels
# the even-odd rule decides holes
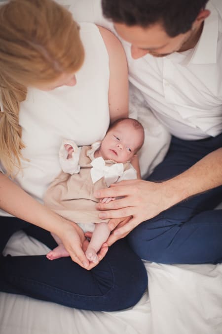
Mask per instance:
[[[208,0],[102,0],[103,14],[116,23],[147,28],[161,23],[170,37],[191,29]]]

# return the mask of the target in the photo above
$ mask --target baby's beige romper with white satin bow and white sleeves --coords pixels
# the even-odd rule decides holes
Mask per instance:
[[[67,159],[68,153],[64,149],[65,143],[74,147],[72,159]],[[48,207],[60,216],[78,224],[108,222],[109,219],[101,220],[98,218],[98,210],[96,210],[95,205],[99,200],[93,196],[94,191],[107,188],[115,181],[136,179],[136,170],[130,162],[117,164],[112,160],[104,161],[102,157],[94,159],[94,152],[100,144],[101,142],[96,142],[91,146],[77,147],[74,142],[63,141],[60,149],[60,162],[63,171],[51,183],[44,196],[44,202]],[[100,162],[99,167],[91,165],[95,161]],[[63,166],[64,163],[68,163],[69,167]],[[111,171],[110,173],[113,165],[118,165],[117,172]],[[95,177],[99,178],[96,182],[94,180],[95,183],[92,181],[92,168],[97,169]]]

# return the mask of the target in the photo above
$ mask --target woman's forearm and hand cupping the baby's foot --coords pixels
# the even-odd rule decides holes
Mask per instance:
[[[83,251],[87,240],[82,230],[75,223],[60,217],[37,202],[2,173],[0,173],[0,208],[15,217],[55,233],[62,239],[73,261],[83,268],[91,269],[92,266],[89,265]]]

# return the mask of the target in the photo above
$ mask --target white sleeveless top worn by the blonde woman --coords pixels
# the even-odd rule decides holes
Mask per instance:
[[[76,73],[76,85],[50,92],[29,89],[26,100],[20,105],[19,123],[27,146],[22,154],[30,161],[22,161],[23,169],[15,182],[39,201],[61,170],[62,139],[89,145],[102,140],[109,127],[108,52],[94,24],[81,23],[80,36],[85,60]]]

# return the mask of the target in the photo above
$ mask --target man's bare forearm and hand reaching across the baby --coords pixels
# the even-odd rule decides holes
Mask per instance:
[[[109,203],[97,203],[96,208],[103,211],[99,214],[99,218],[133,216],[127,224],[113,232],[123,236],[141,222],[157,216],[182,200],[221,186],[221,165],[222,148],[219,148],[182,174],[167,181],[155,183],[129,180],[113,184],[108,189],[96,191],[94,196],[97,198],[116,197],[116,200]]]

